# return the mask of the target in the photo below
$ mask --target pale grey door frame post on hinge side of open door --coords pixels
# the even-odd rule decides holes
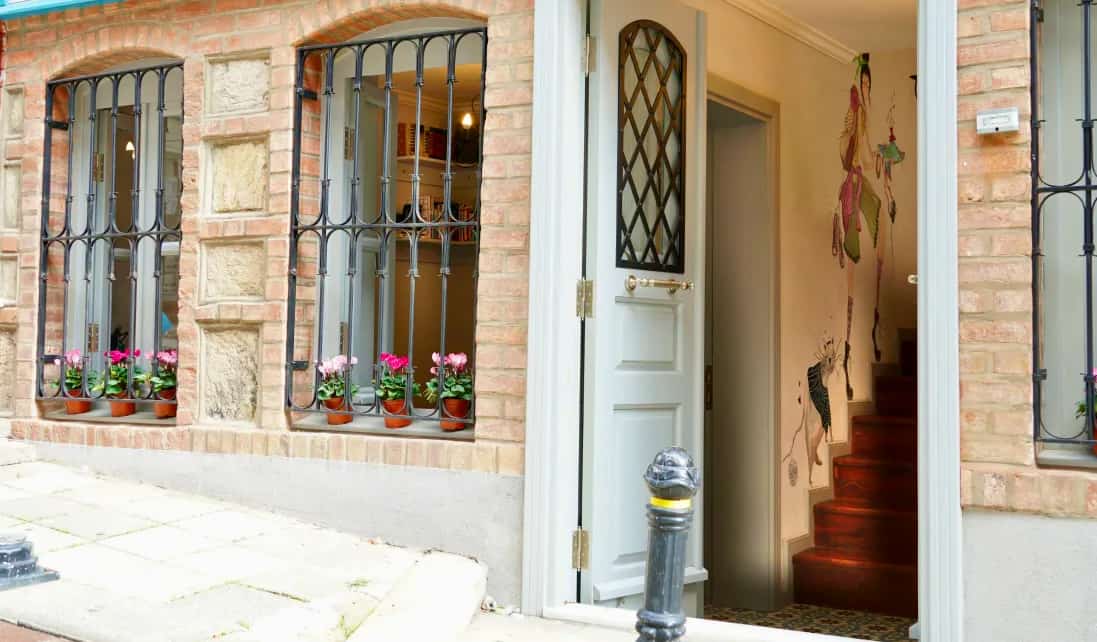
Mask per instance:
[[[533,179],[525,391],[522,610],[575,600],[570,530],[579,496],[579,320],[586,0],[533,16]]]

